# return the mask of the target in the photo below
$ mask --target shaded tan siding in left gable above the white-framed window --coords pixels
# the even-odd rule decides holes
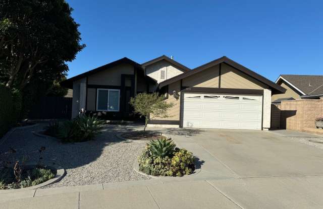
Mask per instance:
[[[120,64],[88,77],[89,85],[121,86],[121,74],[133,75],[131,64]]]

